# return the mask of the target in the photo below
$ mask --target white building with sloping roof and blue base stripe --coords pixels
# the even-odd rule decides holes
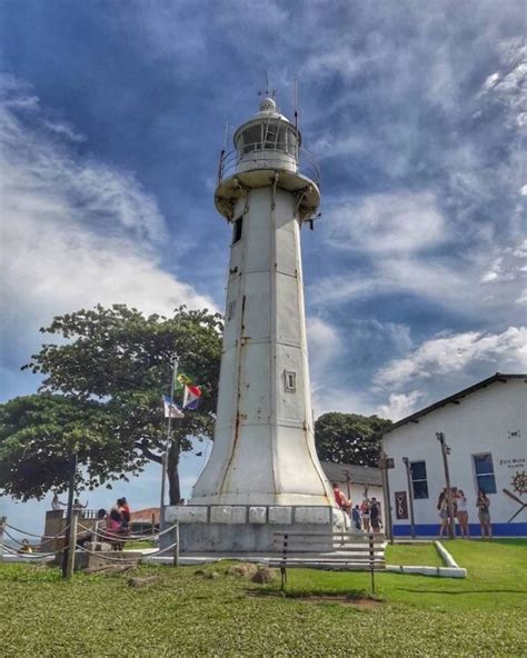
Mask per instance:
[[[463,489],[468,499],[470,534],[480,534],[476,497],[484,489],[494,534],[527,536],[526,385],[527,375],[497,372],[384,433],[384,450],[395,461],[387,472],[396,537],[410,534],[411,499],[416,535],[438,534],[445,468],[436,432],[444,432],[450,449],[450,486]],[[410,492],[404,458],[410,465]]]

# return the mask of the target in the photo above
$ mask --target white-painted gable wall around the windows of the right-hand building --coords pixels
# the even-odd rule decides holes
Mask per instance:
[[[395,459],[396,466],[388,471],[395,526],[409,524],[409,520],[397,520],[395,514],[395,492],[407,491],[402,457],[408,457],[410,461],[426,461],[429,497],[416,499],[414,502],[416,525],[439,525],[436,504],[439,492],[445,487],[445,475],[436,432],[443,431],[447,445],[451,448],[448,459],[450,483],[453,487],[461,488],[467,496],[469,522],[478,524],[475,507],[477,481],[473,455],[490,452],[497,489],[496,493],[489,493],[495,532],[499,530],[497,534],[527,534],[527,508],[513,524],[507,524],[520,505],[503,492],[506,488],[527,502],[527,493],[514,491],[511,483],[517,472],[527,473],[526,391],[527,385],[523,378],[508,379],[506,383],[496,381],[459,399],[459,403],[448,403],[420,417],[418,422],[408,422],[385,435],[386,453]],[[511,436],[511,432],[518,433]],[[419,534],[424,529],[417,530]]]

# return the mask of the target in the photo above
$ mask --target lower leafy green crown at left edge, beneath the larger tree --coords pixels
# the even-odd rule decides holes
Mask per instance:
[[[72,470],[72,455],[87,465],[78,471],[78,485],[91,489],[116,480],[128,463],[127,447],[113,431],[111,413],[103,405],[63,396],[40,393],[14,398],[0,406],[0,487],[6,493],[29,500],[49,489],[64,489]]]

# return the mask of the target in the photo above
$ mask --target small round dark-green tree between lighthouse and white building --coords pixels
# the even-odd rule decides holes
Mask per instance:
[[[391,420],[358,413],[324,413],[315,421],[315,442],[321,460],[377,466],[380,435]]]

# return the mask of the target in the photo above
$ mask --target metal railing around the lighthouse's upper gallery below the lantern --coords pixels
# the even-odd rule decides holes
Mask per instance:
[[[291,149],[290,146],[277,142],[272,148],[264,146],[265,142],[255,142],[243,144],[242,151],[233,149],[232,151],[221,151],[218,167],[218,185],[238,171],[240,164],[252,164],[255,169],[285,169],[295,170],[312,180],[317,187],[320,187],[320,168],[315,157],[306,149]]]

